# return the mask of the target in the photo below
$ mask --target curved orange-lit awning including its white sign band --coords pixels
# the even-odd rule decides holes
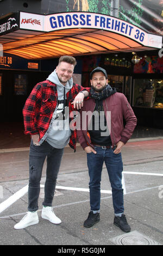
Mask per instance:
[[[74,13],[72,14],[74,15]],[[79,16],[82,15],[81,13],[75,14],[81,18]],[[97,19],[96,14],[86,13],[83,14],[86,17],[85,19],[87,19],[85,26],[81,25],[83,20],[80,23],[78,20],[78,26],[76,26],[74,24],[77,24],[77,16],[75,16],[75,23],[72,22],[74,16],[71,15],[70,13],[62,14],[62,16],[61,14],[47,16],[36,15],[36,26],[39,27],[36,31],[36,26],[33,28],[35,25],[34,20],[31,18],[34,14],[20,13],[20,25],[18,29],[14,32],[0,34],[0,43],[3,44],[3,52],[15,54],[26,59],[46,59],[60,57],[65,54],[79,56],[84,54],[148,51],[161,48],[161,36],[147,34],[146,32],[142,32],[141,29],[139,29],[138,33],[137,27],[114,17],[98,15]],[[46,18],[46,20],[42,21],[40,16],[41,19]],[[116,27],[113,19],[117,22]],[[47,24],[48,21],[49,24]],[[110,26],[106,27],[108,23],[104,21],[110,22]],[[44,25],[44,27],[40,28],[41,22],[46,23],[46,26]],[[93,26],[95,23],[96,26]],[[51,28],[49,27],[50,25]],[[29,29],[27,29],[28,27]],[[50,29],[52,31],[49,32]],[[133,32],[133,35],[131,32]]]

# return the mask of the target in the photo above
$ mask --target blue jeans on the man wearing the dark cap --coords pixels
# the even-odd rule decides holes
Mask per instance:
[[[100,209],[101,200],[101,174],[105,162],[109,180],[112,188],[112,202],[115,214],[124,212],[123,189],[122,189],[122,156],[121,153],[114,154],[113,149],[96,147],[97,154],[87,154],[87,166],[89,168],[90,206],[92,211]]]

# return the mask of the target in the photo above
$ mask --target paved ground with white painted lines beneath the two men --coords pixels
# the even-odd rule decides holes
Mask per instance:
[[[10,132],[10,127],[5,132]],[[3,198],[0,197],[0,210],[3,202],[11,201],[16,192],[28,185],[30,138],[22,133],[29,139],[22,142],[17,130],[12,130],[12,135],[12,141],[1,135],[0,188],[3,188]],[[0,214],[0,245],[61,245],[62,248],[66,245],[83,248],[163,245],[163,134],[158,130],[137,128],[133,137],[122,149],[124,208],[131,225],[130,233],[123,233],[113,224],[111,187],[105,165],[101,182],[101,189],[105,191],[101,193],[101,221],[92,228],[83,227],[90,210],[89,175],[86,154],[78,144],[76,153],[70,147],[65,148],[58,175],[53,208],[62,223],[53,225],[41,218],[45,162],[39,198],[39,224],[14,230],[15,223],[27,212],[28,194],[25,193]]]

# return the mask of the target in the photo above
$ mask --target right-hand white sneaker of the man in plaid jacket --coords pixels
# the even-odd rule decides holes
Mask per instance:
[[[50,206],[43,206],[41,217],[45,218],[45,220],[48,220],[54,224],[61,223],[61,220],[54,214],[53,208]]]

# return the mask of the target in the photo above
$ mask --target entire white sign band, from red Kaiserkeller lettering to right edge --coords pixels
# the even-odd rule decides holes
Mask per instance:
[[[51,32],[70,28],[95,28],[127,36],[149,47],[162,47],[162,36],[148,34],[141,28],[116,17],[85,12],[37,15],[20,12],[20,28]]]

